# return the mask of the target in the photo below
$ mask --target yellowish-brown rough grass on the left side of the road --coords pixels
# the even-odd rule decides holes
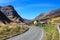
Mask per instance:
[[[27,26],[18,26],[18,24],[7,24],[4,27],[0,27],[0,40],[6,40],[8,38],[20,35],[28,30]]]

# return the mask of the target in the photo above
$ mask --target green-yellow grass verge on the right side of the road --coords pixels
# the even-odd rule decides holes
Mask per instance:
[[[58,29],[54,25],[38,24],[37,26],[44,28],[44,30],[45,30],[44,40],[59,40]]]

